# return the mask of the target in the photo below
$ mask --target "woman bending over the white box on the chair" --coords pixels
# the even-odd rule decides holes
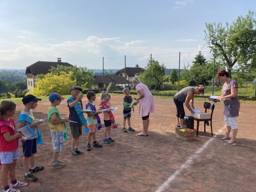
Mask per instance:
[[[177,127],[183,127],[183,121],[185,116],[183,103],[185,103],[187,109],[191,112],[191,114],[194,113],[192,109],[194,109],[195,94],[204,94],[204,87],[201,84],[198,87],[186,87],[174,95],[174,103],[177,109]],[[189,105],[190,100],[191,106]]]

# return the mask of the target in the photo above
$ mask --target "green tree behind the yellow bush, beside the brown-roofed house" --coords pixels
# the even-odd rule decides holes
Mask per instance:
[[[56,68],[52,67],[49,72],[51,74],[59,75],[61,72],[73,72],[72,79],[77,82],[77,85],[83,89],[90,89],[91,84],[94,82],[92,70],[89,70],[86,67],[67,67],[58,65]]]

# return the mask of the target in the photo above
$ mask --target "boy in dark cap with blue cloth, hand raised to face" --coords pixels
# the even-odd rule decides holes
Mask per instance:
[[[84,120],[86,121],[81,112],[83,95],[79,94],[80,91],[82,91],[82,89],[78,86],[72,86],[70,88],[71,97],[68,98],[69,120],[75,121],[69,122],[72,134],[70,151],[72,157],[78,157],[78,155],[84,154],[78,149],[79,137],[82,135],[82,126],[84,125]]]

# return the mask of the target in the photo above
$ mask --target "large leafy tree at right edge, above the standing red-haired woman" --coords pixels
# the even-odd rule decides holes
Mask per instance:
[[[223,61],[231,77],[232,67],[238,63],[249,69],[256,54],[256,13],[248,11],[246,16],[239,16],[231,25],[226,23],[205,24],[206,44],[217,58]]]

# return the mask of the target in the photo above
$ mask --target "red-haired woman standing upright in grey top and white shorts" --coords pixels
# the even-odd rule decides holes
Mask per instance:
[[[228,141],[225,145],[236,145],[236,136],[238,133],[238,116],[240,109],[240,102],[238,99],[238,83],[229,77],[228,72],[221,69],[217,73],[217,77],[224,81],[222,87],[222,95],[218,97],[224,102],[224,121],[226,125],[226,134],[218,141]],[[214,100],[217,102],[217,99]],[[232,130],[232,138],[229,137]]]

